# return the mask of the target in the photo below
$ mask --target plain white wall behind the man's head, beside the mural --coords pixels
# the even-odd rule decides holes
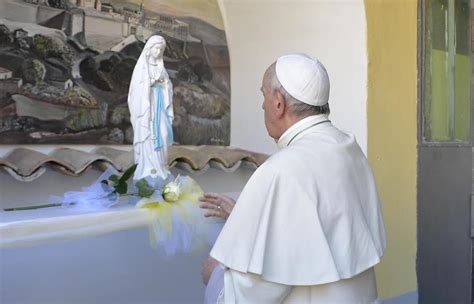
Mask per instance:
[[[260,93],[278,56],[318,57],[331,79],[330,118],[367,151],[367,48],[363,0],[218,0],[231,58],[231,145],[272,153]]]

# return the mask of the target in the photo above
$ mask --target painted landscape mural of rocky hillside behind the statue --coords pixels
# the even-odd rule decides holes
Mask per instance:
[[[167,41],[175,142],[228,145],[230,63],[217,0],[1,0],[0,144],[130,144],[130,78]]]

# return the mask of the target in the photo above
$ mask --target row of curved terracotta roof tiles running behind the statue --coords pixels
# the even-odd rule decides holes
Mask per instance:
[[[221,146],[172,146],[168,164],[189,172],[203,173],[209,167],[232,172],[242,164],[260,166],[268,155],[243,149]],[[58,148],[48,154],[35,150],[17,148],[0,159],[0,167],[20,181],[32,181],[53,168],[60,172],[79,176],[91,167],[101,170],[113,167],[123,171],[133,164],[133,152],[110,147],[99,147],[92,152],[70,148]]]

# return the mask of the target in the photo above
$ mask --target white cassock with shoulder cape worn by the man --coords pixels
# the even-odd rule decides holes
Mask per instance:
[[[327,115],[307,117],[252,175],[211,256],[225,303],[375,303],[385,247],[367,158]]]

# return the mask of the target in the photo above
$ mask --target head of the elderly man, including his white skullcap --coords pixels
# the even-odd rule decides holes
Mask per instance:
[[[268,134],[278,140],[295,122],[329,114],[329,78],[324,66],[304,54],[278,58],[262,81],[262,108]]]

